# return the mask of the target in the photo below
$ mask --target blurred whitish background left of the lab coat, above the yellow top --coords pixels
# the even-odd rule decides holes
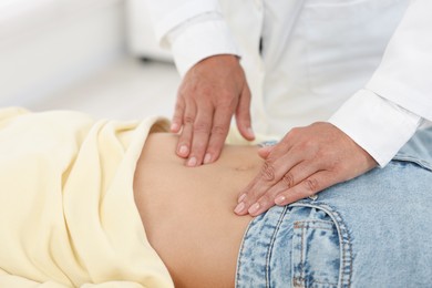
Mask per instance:
[[[1,0],[0,106],[171,117],[179,76],[145,0]]]

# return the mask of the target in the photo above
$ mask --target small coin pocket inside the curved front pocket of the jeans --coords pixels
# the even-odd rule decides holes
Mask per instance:
[[[337,287],[340,269],[339,236],[329,220],[294,224],[292,287]]]

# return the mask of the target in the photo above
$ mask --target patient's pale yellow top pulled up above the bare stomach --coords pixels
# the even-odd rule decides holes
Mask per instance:
[[[173,287],[133,197],[155,125],[0,111],[0,287]]]

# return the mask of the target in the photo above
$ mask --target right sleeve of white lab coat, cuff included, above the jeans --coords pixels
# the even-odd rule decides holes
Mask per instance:
[[[364,90],[329,120],[380,166],[432,121],[432,1],[412,0]]]

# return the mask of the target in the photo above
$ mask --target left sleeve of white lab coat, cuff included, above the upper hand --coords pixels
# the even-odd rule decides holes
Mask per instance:
[[[240,55],[217,0],[150,0],[148,8],[156,38],[171,48],[182,76],[208,56]]]

